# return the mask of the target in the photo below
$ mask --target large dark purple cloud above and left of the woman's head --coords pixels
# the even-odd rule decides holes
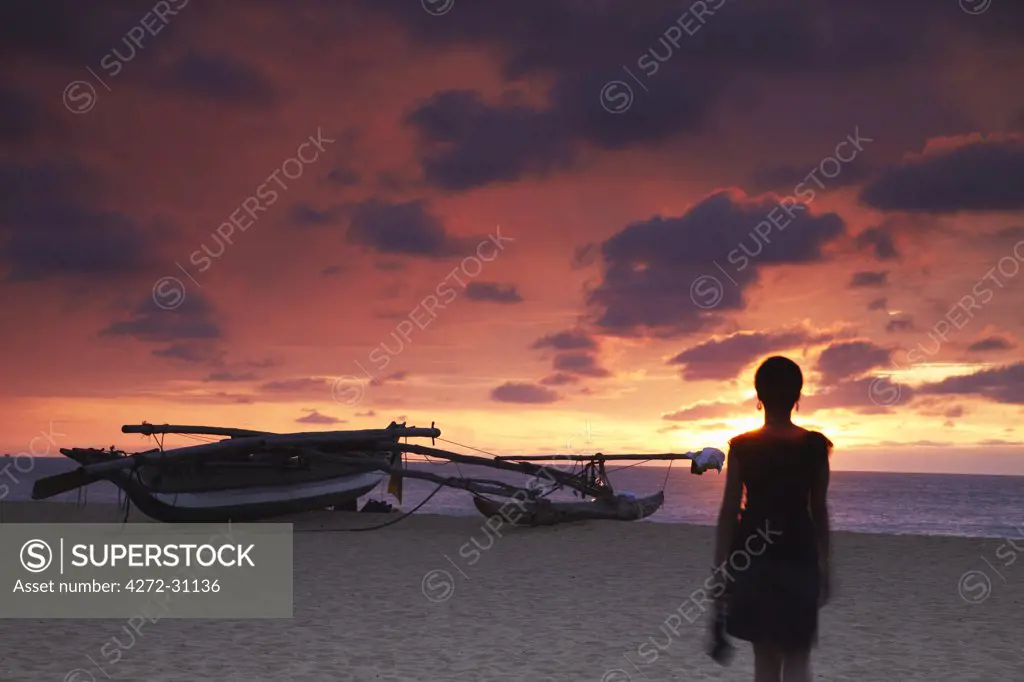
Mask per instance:
[[[786,219],[770,197],[719,191],[682,216],[630,224],[601,247],[604,279],[589,293],[596,324],[609,334],[636,335],[647,329],[673,336],[716,324],[722,312],[743,309],[743,294],[763,267],[822,260],[822,246],[844,233],[846,224],[835,213],[791,210],[793,220],[783,223],[784,229],[774,228],[767,244],[754,227],[762,221],[770,224],[769,215]],[[730,263],[729,278],[736,284],[723,282],[715,263]],[[694,287],[701,282],[714,290],[703,293],[714,294],[715,305],[697,305]]]

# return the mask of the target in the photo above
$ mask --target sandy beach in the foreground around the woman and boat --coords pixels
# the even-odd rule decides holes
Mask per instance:
[[[99,505],[3,504],[6,523],[118,518]],[[479,518],[424,515],[373,532],[298,532],[380,519],[289,519],[294,620],[164,619],[104,670],[89,657],[102,663],[112,637],[130,641],[123,620],[2,621],[0,680],[753,678],[743,643],[728,668],[705,654],[708,616],[687,602],[708,576],[712,528],[606,521],[501,528],[499,538]],[[1024,552],[1024,536],[1016,542]],[[854,534],[837,534],[835,545],[837,594],[822,611],[816,679],[1024,679],[1024,560],[1007,565],[1018,558],[1012,545]],[[979,572],[962,589],[968,571],[987,574],[990,591]]]

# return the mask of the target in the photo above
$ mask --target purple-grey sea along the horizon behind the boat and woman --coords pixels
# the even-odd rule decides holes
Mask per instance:
[[[32,484],[37,478],[68,471],[74,466],[62,458],[0,458],[0,501],[30,500]],[[460,475],[459,466],[451,463],[416,466],[438,475]],[[685,463],[677,463],[671,470],[653,466],[625,468],[627,466],[608,466],[609,477],[617,492],[647,495],[665,487],[665,506],[643,522],[715,524],[725,483],[724,473],[712,471],[694,476]],[[526,483],[526,477],[519,474],[489,469],[481,474],[474,469],[463,465],[461,472],[521,485]],[[407,479],[401,508],[413,509],[435,487],[427,481]],[[382,488],[370,497],[394,504]],[[110,483],[99,482],[81,493],[65,494],[54,501],[117,503],[119,491]],[[974,538],[1024,534],[1024,476],[836,471],[831,476],[828,503],[836,530]],[[477,514],[470,495],[452,488],[439,491],[419,511],[460,516]]]

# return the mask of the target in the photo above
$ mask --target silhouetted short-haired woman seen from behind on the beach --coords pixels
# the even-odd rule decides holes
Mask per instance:
[[[754,645],[755,682],[809,682],[818,608],[831,582],[831,442],[792,421],[804,385],[796,363],[769,357],[754,385],[765,424],[729,442],[718,518],[715,566],[725,564],[726,629]]]

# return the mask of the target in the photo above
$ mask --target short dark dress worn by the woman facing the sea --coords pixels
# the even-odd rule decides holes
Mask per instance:
[[[754,432],[730,442],[729,466],[745,489],[725,568],[733,637],[784,650],[816,642],[820,574],[809,502],[830,446],[816,431],[799,439]]]

